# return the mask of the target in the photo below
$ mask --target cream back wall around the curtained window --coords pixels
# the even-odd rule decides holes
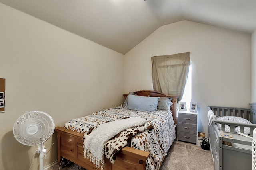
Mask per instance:
[[[251,35],[180,21],[158,28],[124,58],[124,92],[152,90],[151,57],[190,51],[198,131],[208,133],[207,106],[250,108]],[[189,104],[187,104],[189,106]]]

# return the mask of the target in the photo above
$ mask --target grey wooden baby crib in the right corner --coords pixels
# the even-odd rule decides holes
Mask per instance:
[[[215,170],[251,170],[252,134],[256,127],[254,112],[243,108],[208,106],[208,118]]]

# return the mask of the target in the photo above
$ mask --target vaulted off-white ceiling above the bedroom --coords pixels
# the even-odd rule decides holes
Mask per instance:
[[[125,54],[163,25],[182,20],[252,33],[256,0],[0,0]]]

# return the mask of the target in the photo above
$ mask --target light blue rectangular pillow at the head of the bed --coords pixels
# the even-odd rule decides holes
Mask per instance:
[[[159,97],[127,96],[127,109],[138,111],[157,111]]]

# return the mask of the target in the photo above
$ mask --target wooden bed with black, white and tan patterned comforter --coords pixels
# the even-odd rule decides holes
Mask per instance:
[[[146,96],[153,98],[160,97],[161,99],[169,98],[171,100],[170,103],[172,103],[170,104],[170,111],[157,109],[157,111],[153,112],[144,112],[132,109],[128,110],[126,109],[126,105],[121,105],[89,115],[91,116],[90,119],[97,119],[103,123],[105,123],[105,121],[112,121],[112,119],[116,118],[142,117],[146,119],[147,122],[149,121],[152,123],[152,126],[154,127],[153,129],[142,131],[141,133],[138,133],[136,136],[132,137],[132,139],[130,139],[128,142],[128,145],[120,149],[116,155],[114,164],[112,164],[105,155],[104,167],[102,167],[103,170],[158,170],[162,164],[162,161],[164,160],[166,152],[176,137],[175,128],[177,124],[177,96],[170,96],[150,90],[142,90],[132,93],[133,95],[131,93],[129,93],[131,95],[124,94],[125,102],[127,99],[132,98],[132,96]],[[158,106],[160,106],[160,104],[158,104]],[[110,117],[106,116],[109,112],[113,111],[114,115]],[[126,111],[129,112],[126,113]],[[146,114],[150,116],[144,117]],[[102,115],[103,119],[99,118]],[[81,120],[84,118],[78,119]],[[167,124],[165,122],[166,120],[168,120]],[[86,128],[93,125],[83,125],[86,128],[77,128],[73,126],[75,124],[74,122],[76,121],[77,119],[73,119],[65,123],[63,127],[55,128],[58,137],[58,164],[60,164],[62,158],[65,158],[86,168],[87,170],[95,170],[95,165],[92,164],[89,159],[84,158],[83,143],[84,134],[88,132]],[[94,121],[94,123],[95,122],[99,123],[99,121]],[[81,125],[83,123],[77,124]],[[162,124],[165,127],[162,127]],[[162,131],[164,129],[167,129],[167,132],[163,137]],[[164,139],[164,142],[162,142],[162,139]],[[150,141],[153,141],[153,143],[150,143]],[[161,141],[161,143],[156,144],[158,141]],[[100,170],[101,167],[98,167],[97,169]]]

